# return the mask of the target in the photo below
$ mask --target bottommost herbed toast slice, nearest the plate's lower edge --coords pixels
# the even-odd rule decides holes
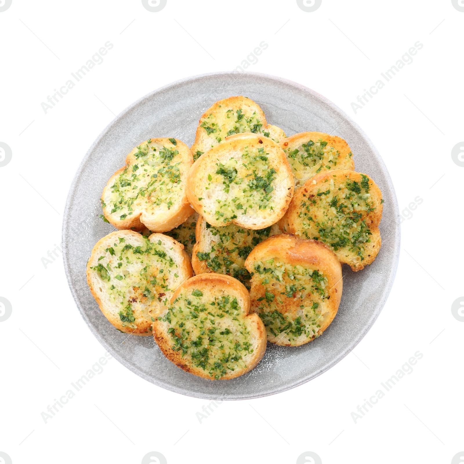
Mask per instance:
[[[204,379],[234,379],[255,367],[266,349],[266,330],[248,314],[250,296],[232,277],[200,274],[174,292],[153,323],[163,354]]]

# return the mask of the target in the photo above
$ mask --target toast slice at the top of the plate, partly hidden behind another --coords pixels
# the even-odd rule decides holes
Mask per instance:
[[[285,137],[282,129],[267,124],[258,103],[247,97],[229,97],[214,103],[200,117],[191,148],[193,159],[224,142],[227,136],[244,132],[271,137],[276,143]]]

